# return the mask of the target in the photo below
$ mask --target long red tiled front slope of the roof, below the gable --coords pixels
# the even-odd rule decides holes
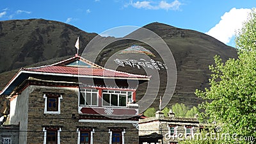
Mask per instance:
[[[86,68],[86,67],[65,67],[65,66],[45,66],[35,68],[23,68],[22,70],[29,72],[44,72],[53,74],[72,74],[79,76],[99,76],[99,77],[130,77],[130,78],[145,78],[148,76],[129,74],[107,68]]]

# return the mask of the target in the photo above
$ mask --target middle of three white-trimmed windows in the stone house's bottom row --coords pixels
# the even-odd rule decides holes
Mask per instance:
[[[92,144],[93,143],[93,128],[77,128],[77,143]]]

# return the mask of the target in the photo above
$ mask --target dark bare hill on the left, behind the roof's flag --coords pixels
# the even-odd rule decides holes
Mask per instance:
[[[52,20],[0,21],[0,72],[73,55],[77,36],[84,48],[96,35]]]

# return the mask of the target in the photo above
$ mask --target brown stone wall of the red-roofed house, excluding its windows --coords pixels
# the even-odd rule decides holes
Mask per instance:
[[[109,144],[109,128],[125,129],[125,143],[138,143],[138,130],[132,124],[79,122],[78,88],[63,88],[50,86],[29,86],[33,92],[29,95],[28,109],[28,141],[27,143],[43,143],[45,126],[60,127],[61,144],[77,143],[77,127],[92,127],[93,143]],[[60,100],[61,114],[44,114],[44,92],[63,93]]]

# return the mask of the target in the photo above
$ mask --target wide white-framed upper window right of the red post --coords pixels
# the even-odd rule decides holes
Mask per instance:
[[[127,106],[129,99],[132,99],[131,91],[102,90],[102,106]]]

